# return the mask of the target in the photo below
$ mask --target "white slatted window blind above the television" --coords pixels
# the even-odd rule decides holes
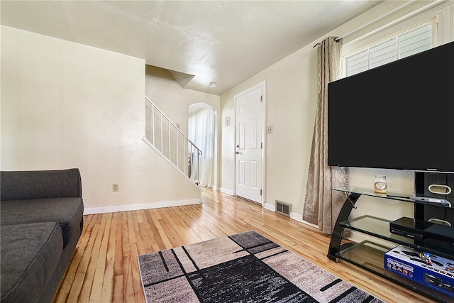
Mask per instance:
[[[427,23],[346,57],[345,76],[355,75],[430,48],[432,48],[432,25]]]

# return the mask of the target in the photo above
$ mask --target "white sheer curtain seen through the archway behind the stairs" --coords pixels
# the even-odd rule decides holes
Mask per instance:
[[[197,152],[192,150],[193,162],[191,180],[198,181],[201,187],[213,187],[214,165],[214,111],[206,108],[189,116],[188,138],[202,154],[199,156],[199,173],[197,173]]]

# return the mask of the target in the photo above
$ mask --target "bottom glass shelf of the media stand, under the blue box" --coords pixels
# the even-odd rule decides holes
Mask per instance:
[[[384,269],[384,253],[391,250],[396,245],[389,243],[389,245],[377,244],[372,241],[362,241],[360,243],[346,243],[341,246],[341,251],[336,254],[338,258],[345,260],[349,263],[359,266],[365,270],[380,275],[388,280],[392,280],[399,285],[409,287],[412,290],[424,294],[438,302],[453,302],[453,297],[447,294],[437,292],[436,290],[426,287],[420,283],[413,282],[409,279],[397,275],[394,272]]]

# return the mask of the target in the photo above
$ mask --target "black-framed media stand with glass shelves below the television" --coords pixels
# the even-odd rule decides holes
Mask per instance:
[[[389,223],[394,221],[394,219],[387,220],[369,214],[358,216],[356,218],[350,218],[351,211],[354,208],[361,207],[362,201],[364,201],[364,199],[367,201],[367,197],[390,199],[394,200],[397,204],[412,203],[414,204],[414,219],[418,220],[423,220],[424,204],[428,203],[410,199],[411,194],[391,192],[388,194],[375,194],[373,189],[361,189],[358,187],[354,189],[333,190],[345,193],[347,198],[345,199],[336,221],[336,226],[334,226],[333,233],[331,234],[331,242],[328,248],[328,258],[336,262],[339,260],[345,260],[349,263],[353,263],[360,268],[373,272],[376,275],[380,275],[387,280],[396,282],[397,284],[414,290],[415,292],[419,292],[420,294],[434,299],[437,302],[454,302],[454,297],[450,297],[447,294],[443,294],[442,292],[438,292],[430,287],[426,287],[420,283],[406,279],[401,275],[397,275],[394,272],[384,269],[384,253],[387,253],[387,251],[399,245],[404,245],[417,250],[423,250],[442,258],[448,258],[453,260],[454,263],[454,253],[451,250],[438,250],[436,248],[425,247],[423,242],[418,239],[412,239],[406,236],[399,236],[391,233],[389,231]],[[450,202],[451,204],[454,204],[453,201]],[[436,206],[450,208],[449,205],[443,204],[436,204]],[[367,238],[367,240],[355,243],[347,238],[343,238],[345,228],[367,235],[364,237]]]

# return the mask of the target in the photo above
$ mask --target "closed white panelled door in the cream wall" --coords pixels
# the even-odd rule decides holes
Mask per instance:
[[[236,103],[236,195],[262,203],[262,92],[258,85]]]

